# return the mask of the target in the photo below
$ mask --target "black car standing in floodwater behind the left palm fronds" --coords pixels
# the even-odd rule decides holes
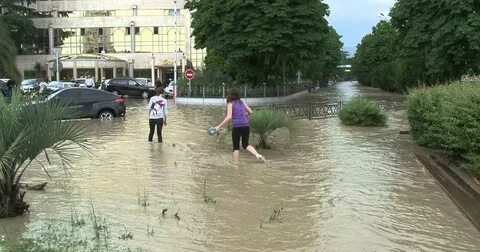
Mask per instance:
[[[59,100],[75,110],[76,118],[111,119],[125,116],[124,100],[118,95],[89,88],[67,88],[50,94],[46,101]]]

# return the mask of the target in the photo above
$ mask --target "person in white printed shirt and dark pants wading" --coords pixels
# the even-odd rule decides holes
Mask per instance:
[[[150,132],[148,133],[148,141],[152,142],[153,140],[153,133],[155,133],[155,126],[157,126],[157,138],[158,142],[163,142],[162,138],[162,128],[163,126],[167,126],[167,100],[162,97],[163,95],[163,87],[158,87],[156,89],[156,95],[150,98],[150,102],[148,103],[148,115],[149,115],[149,125],[150,125]]]

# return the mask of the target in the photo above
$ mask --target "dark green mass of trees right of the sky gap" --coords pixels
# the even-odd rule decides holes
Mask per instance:
[[[357,46],[360,83],[405,92],[480,73],[480,1],[398,0]]]

